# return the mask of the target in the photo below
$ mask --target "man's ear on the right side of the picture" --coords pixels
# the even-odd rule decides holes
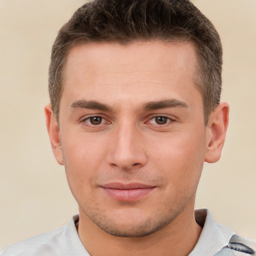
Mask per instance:
[[[209,116],[206,127],[206,162],[216,162],[221,155],[228,125],[229,106],[220,103]]]

